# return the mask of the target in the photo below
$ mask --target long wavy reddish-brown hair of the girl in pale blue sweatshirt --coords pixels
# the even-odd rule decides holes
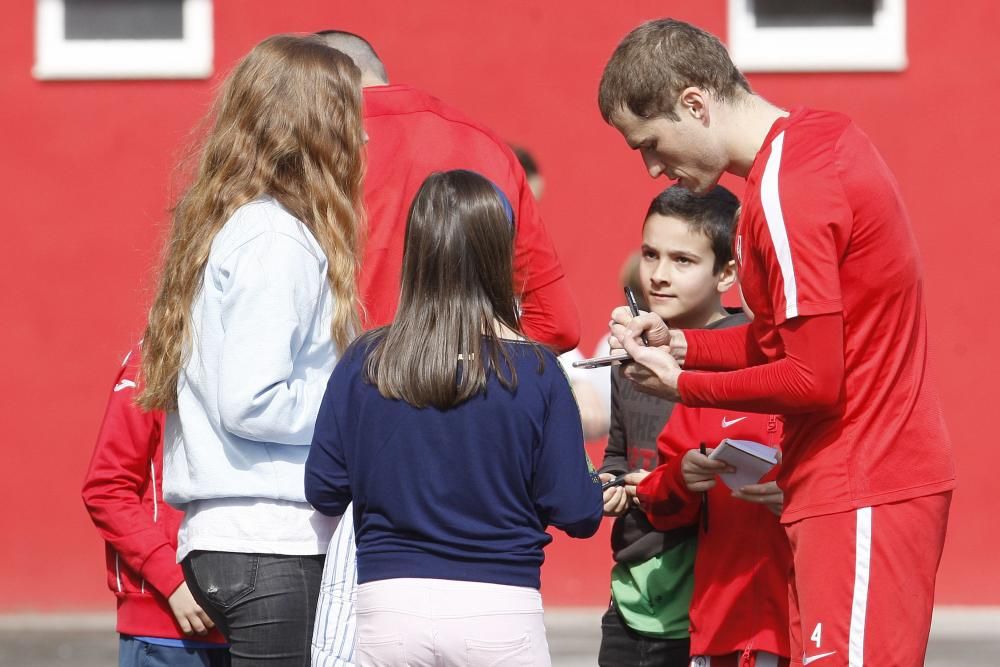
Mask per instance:
[[[173,212],[143,339],[144,408],[176,409],[212,240],[236,209],[262,195],[298,218],[326,255],[334,342],[344,349],[359,330],[360,80],[350,58],[319,38],[293,35],[265,39],[227,77],[194,182]]]

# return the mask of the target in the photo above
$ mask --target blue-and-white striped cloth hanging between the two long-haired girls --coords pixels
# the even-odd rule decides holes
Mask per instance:
[[[323,566],[323,581],[313,626],[313,667],[353,667],[357,622],[358,569],[354,545],[354,506],[348,505],[333,533]]]

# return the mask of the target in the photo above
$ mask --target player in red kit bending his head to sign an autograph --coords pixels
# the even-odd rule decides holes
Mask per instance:
[[[626,376],[685,405],[785,415],[796,661],[922,664],[955,467],[895,179],[849,118],[771,104],[718,39],[673,19],[625,37],[598,102],[650,176],[747,182],[735,248],[753,323],[684,331],[616,309]]]

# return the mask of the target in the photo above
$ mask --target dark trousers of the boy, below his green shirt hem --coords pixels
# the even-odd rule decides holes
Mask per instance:
[[[689,639],[656,639],[625,625],[614,604],[601,618],[601,667],[688,667]]]

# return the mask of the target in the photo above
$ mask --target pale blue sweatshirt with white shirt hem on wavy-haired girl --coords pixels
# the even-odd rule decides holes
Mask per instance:
[[[165,429],[164,499],[185,512],[178,560],[325,553],[335,522],[305,502],[303,471],[337,359],[326,273],[316,239],[270,197],[212,242]]]

